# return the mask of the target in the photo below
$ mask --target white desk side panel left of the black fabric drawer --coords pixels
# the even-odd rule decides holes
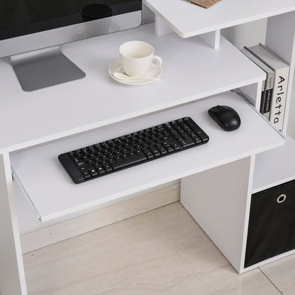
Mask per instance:
[[[180,201],[240,273],[244,271],[255,156],[182,179]]]

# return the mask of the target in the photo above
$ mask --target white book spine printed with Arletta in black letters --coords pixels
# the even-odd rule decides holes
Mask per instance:
[[[269,111],[269,121],[282,131],[284,111],[286,107],[286,91],[288,87],[289,67],[277,69],[274,77],[274,88]]]

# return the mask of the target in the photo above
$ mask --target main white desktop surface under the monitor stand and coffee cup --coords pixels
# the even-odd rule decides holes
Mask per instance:
[[[108,66],[118,59],[119,45],[128,40],[154,45],[155,54],[163,60],[162,82],[129,86],[108,76]],[[0,150],[45,143],[265,77],[223,38],[220,50],[213,50],[199,37],[184,40],[175,33],[157,37],[154,24],[62,45],[61,49],[86,72],[84,79],[25,92],[8,60],[0,60]]]

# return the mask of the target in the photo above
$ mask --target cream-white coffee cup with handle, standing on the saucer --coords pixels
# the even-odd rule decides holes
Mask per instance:
[[[145,76],[150,67],[161,67],[162,59],[154,55],[152,45],[143,41],[128,41],[119,48],[121,64],[128,76]]]

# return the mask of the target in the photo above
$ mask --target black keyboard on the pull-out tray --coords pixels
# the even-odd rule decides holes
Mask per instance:
[[[189,117],[163,123],[58,156],[79,184],[121,169],[208,143],[208,135]]]

